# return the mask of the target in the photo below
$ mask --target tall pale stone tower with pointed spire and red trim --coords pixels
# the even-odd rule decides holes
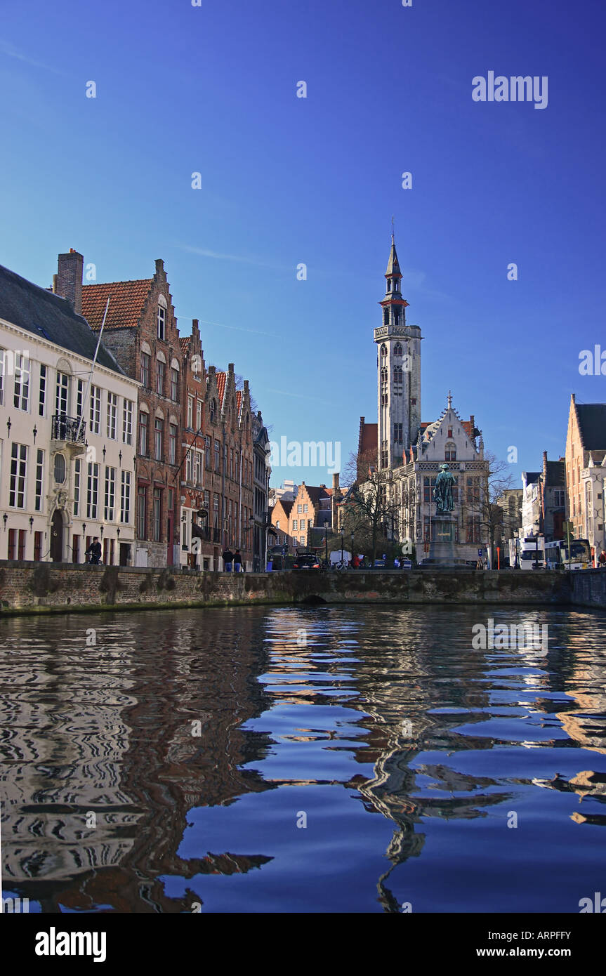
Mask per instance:
[[[385,271],[383,325],[375,329],[379,395],[377,453],[380,468],[399,468],[402,454],[417,441],[421,428],[421,329],[406,324],[408,302],[402,298],[402,272],[393,234]]]

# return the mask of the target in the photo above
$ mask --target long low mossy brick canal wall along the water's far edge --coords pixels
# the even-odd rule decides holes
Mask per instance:
[[[600,571],[596,571],[600,572]],[[587,606],[606,608],[606,572]],[[351,572],[199,573],[0,560],[0,615],[252,604],[570,604],[584,573],[417,569]],[[601,594],[601,595],[600,595]],[[601,599],[601,602],[600,602]]]

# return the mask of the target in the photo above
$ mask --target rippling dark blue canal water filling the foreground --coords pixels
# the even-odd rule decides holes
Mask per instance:
[[[491,639],[524,621],[545,642]],[[477,606],[5,620],[4,896],[579,913],[606,893],[604,633]]]

